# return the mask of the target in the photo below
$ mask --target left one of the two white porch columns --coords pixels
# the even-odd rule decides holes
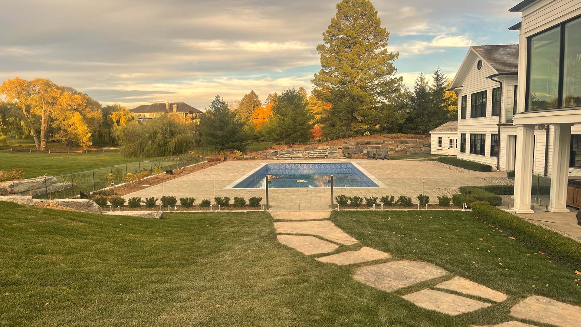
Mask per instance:
[[[514,211],[518,214],[533,214],[530,209],[530,192],[533,172],[533,145],[535,125],[517,127],[517,159],[514,169]]]

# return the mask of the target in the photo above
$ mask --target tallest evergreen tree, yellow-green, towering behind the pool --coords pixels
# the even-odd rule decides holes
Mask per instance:
[[[369,115],[397,97],[394,77],[398,53],[387,50],[389,33],[369,0],[343,0],[317,47],[321,70],[314,94],[331,104],[321,119],[325,136],[350,137],[369,128]]]

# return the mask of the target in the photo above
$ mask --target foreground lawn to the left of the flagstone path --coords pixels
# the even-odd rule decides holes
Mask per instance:
[[[468,327],[278,243],[266,212],[0,212],[2,326]]]

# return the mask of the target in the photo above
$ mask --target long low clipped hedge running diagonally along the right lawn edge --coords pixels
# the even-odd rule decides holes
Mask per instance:
[[[581,243],[551,232],[540,226],[524,221],[486,202],[472,203],[472,211],[482,221],[494,225],[510,237],[515,237],[537,251],[551,257],[551,260],[581,271]]]

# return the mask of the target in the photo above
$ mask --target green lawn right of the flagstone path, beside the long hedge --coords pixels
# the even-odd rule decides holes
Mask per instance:
[[[529,295],[581,305],[581,275],[510,239],[472,212],[333,211],[331,221],[359,240],[361,246],[392,253],[394,260],[432,262],[509,296],[502,303],[490,302],[494,305],[457,316],[460,321],[477,325],[509,321],[514,319],[510,317],[512,305]],[[442,279],[396,294],[416,292],[439,282]],[[416,307],[413,312],[425,315],[429,311]]]

